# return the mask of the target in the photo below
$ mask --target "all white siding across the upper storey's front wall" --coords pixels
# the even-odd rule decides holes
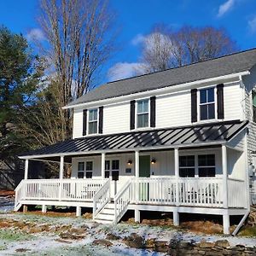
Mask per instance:
[[[245,101],[243,101],[242,98],[242,91],[243,89],[241,89],[239,82],[224,84],[224,120],[243,119],[245,109],[241,108],[241,106],[245,105]],[[199,100],[198,98],[197,102],[199,102]],[[183,90],[166,96],[156,96],[155,103],[155,128],[191,125],[190,90]],[[215,119],[213,121],[218,120]],[[200,120],[198,123],[200,123]],[[82,130],[83,110],[75,109],[73,117],[73,137],[82,137]],[[130,131],[130,102],[104,106],[103,134],[128,131]]]

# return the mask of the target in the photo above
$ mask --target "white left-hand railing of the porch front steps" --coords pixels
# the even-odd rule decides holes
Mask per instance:
[[[110,178],[108,178],[107,182],[102,185],[102,188],[93,197],[93,219],[102,211],[102,208],[107,205],[108,201],[110,201]]]

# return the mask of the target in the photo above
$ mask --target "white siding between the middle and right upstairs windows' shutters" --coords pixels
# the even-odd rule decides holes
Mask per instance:
[[[190,91],[156,98],[156,126],[172,127],[191,124]]]

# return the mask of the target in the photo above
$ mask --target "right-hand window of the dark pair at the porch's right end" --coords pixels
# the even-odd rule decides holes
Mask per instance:
[[[215,154],[198,155],[198,176],[215,177]]]

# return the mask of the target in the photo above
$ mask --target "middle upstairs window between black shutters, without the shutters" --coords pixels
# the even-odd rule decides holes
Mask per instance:
[[[137,102],[137,128],[148,127],[149,124],[149,101]]]

